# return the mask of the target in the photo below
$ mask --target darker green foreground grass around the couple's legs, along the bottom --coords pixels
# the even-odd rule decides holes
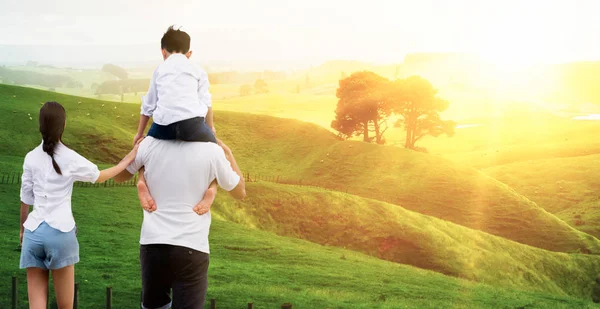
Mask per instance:
[[[251,189],[252,190],[252,189]],[[115,203],[115,201],[118,201]],[[19,278],[20,307],[26,308],[25,273],[18,270],[18,186],[0,185],[0,203],[14,209],[0,218],[8,304],[10,276]],[[11,206],[13,205],[13,206]],[[73,209],[81,262],[76,266],[80,307],[104,308],[113,288],[114,308],[138,305],[141,211],[133,188],[76,188]],[[220,308],[595,308],[558,294],[508,290],[382,261],[364,254],[280,237],[220,219],[210,234],[208,298]]]

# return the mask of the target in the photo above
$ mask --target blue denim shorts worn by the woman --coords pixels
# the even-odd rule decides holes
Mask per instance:
[[[79,262],[76,229],[65,233],[46,222],[33,232],[25,229],[20,268],[60,269]]]

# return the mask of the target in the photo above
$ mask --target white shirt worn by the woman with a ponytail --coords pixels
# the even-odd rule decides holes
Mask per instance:
[[[42,144],[25,156],[21,201],[33,205],[33,211],[23,226],[32,232],[44,221],[61,232],[71,231],[75,227],[71,211],[73,182],[94,183],[100,177],[94,163],[62,143],[55,148],[54,160],[62,175],[52,167],[52,158],[44,152]]]

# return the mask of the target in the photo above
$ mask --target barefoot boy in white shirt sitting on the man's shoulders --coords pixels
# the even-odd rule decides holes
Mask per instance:
[[[150,117],[153,123],[148,136],[217,143],[208,75],[189,60],[192,56],[190,41],[187,33],[175,30],[173,26],[163,35],[160,45],[164,62],[154,71],[148,93],[142,98],[134,144],[143,137]],[[140,170],[137,187],[142,207],[154,211],[156,205],[146,186],[143,169]],[[208,212],[216,190],[217,184],[213,181],[202,201],[194,207],[196,213],[202,215]]]

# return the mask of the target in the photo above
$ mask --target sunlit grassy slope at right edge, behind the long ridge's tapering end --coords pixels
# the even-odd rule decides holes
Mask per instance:
[[[483,171],[571,226],[600,237],[600,155],[506,164]]]

